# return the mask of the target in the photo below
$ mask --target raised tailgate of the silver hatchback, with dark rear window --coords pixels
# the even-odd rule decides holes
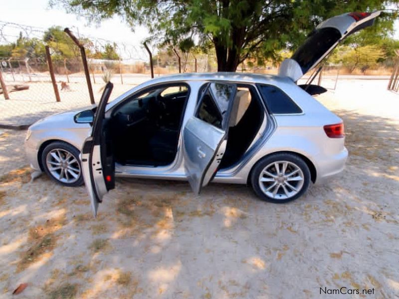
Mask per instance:
[[[380,13],[344,13],[320,23],[292,57],[281,63],[278,75],[296,82],[315,68],[345,37],[373,25]]]

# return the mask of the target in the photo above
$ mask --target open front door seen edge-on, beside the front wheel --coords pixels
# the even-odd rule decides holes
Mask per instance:
[[[90,196],[94,217],[103,196],[115,187],[115,162],[111,144],[107,141],[105,108],[111,95],[113,84],[108,82],[94,116],[91,135],[81,150],[83,178]]]

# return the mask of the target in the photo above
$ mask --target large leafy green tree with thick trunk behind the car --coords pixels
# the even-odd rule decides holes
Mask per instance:
[[[97,21],[118,14],[132,28],[147,25],[155,38],[162,36],[157,39],[163,44],[210,41],[218,71],[235,71],[250,57],[273,59],[279,50],[297,46],[327,17],[392,3],[399,0],[50,0]],[[395,16],[383,18],[392,28]]]

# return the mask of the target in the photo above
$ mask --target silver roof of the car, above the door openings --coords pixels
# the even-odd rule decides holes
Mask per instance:
[[[251,73],[233,73],[233,72],[217,72],[217,73],[183,73],[174,75],[164,75],[147,81],[148,84],[156,84],[171,81],[232,81],[243,83],[264,83],[279,85],[278,83],[293,83],[288,77],[279,77],[268,74],[251,74]]]

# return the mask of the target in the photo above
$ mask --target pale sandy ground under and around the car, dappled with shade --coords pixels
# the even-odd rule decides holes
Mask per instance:
[[[94,220],[84,187],[8,172],[0,297],[27,283],[18,298],[319,298],[341,287],[399,298],[399,95],[385,86],[345,81],[318,98],[344,119],[350,158],[342,178],[289,204],[246,186],[194,196],[184,182],[120,179]],[[0,168],[26,164],[14,132],[0,137]]]

